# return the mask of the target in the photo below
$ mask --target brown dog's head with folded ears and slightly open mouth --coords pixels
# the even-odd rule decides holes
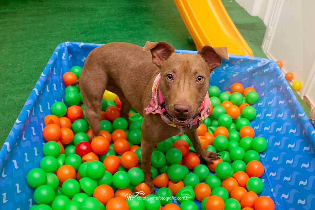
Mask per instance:
[[[159,90],[166,109],[178,125],[188,124],[199,111],[208,91],[211,71],[229,59],[226,47],[204,46],[198,54],[175,53],[168,42],[147,41],[143,51],[151,51],[152,62],[161,69]]]

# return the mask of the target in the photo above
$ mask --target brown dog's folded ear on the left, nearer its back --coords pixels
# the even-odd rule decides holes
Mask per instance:
[[[151,51],[152,63],[158,67],[175,52],[174,47],[166,41],[151,42],[147,41],[143,47],[143,51]]]

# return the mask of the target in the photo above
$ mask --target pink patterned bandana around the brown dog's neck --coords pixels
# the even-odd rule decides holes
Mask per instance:
[[[158,105],[157,102],[157,87],[158,87],[158,83],[160,81],[161,78],[161,73],[159,73],[157,75],[157,77],[155,78],[154,82],[153,82],[153,86],[152,86],[152,99],[149,102],[149,105],[147,108],[145,108],[144,110],[146,111],[146,114],[152,113],[152,114],[160,114],[162,120],[175,128],[184,128],[184,127],[188,127],[189,129],[192,127],[192,125],[196,125],[197,127],[202,123],[202,121],[204,119],[206,119],[209,116],[209,112],[210,112],[210,98],[209,98],[209,94],[207,91],[206,96],[204,97],[203,102],[201,103],[200,109],[199,109],[199,114],[194,117],[193,119],[189,119],[188,120],[188,124],[184,125],[184,126],[180,126],[177,125],[173,122],[172,118],[170,117],[170,115],[166,112],[166,109],[164,107],[161,107]],[[159,97],[160,97],[160,102],[161,104],[164,102],[161,91],[159,91]],[[165,116],[165,113],[167,116]]]

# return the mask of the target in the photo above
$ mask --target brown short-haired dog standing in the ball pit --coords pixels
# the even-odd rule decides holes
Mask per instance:
[[[150,51],[150,52],[148,52]],[[210,72],[228,59],[226,47],[202,47],[197,55],[175,54],[168,42],[147,41],[144,47],[115,42],[95,48],[86,58],[80,74],[86,119],[93,135],[100,135],[101,100],[105,89],[116,93],[122,102],[121,116],[128,119],[131,106],[144,117],[141,126],[141,169],[144,182],[154,193],[151,179],[151,154],[154,146],[171,136],[185,132],[193,147],[205,161],[218,158],[217,153],[203,149],[197,125],[186,126],[198,113],[209,87]],[[175,128],[166,124],[160,114],[146,114],[152,99],[152,85],[161,73],[158,90]],[[160,99],[158,98],[160,105]],[[184,126],[184,127],[183,127]],[[186,126],[186,127],[185,127]]]

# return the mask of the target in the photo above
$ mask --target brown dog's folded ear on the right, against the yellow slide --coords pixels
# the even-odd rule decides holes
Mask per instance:
[[[222,58],[229,59],[227,47],[203,46],[198,50],[198,54],[207,62],[211,71],[221,66]]]

